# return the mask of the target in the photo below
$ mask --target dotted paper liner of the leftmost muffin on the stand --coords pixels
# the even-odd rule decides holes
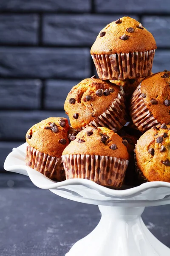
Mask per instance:
[[[65,180],[64,166],[61,158],[44,154],[28,144],[26,146],[26,165],[51,180]]]

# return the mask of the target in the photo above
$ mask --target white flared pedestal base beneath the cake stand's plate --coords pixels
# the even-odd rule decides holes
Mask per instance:
[[[65,256],[170,256],[145,226],[144,207],[99,206],[97,227],[78,241]]]

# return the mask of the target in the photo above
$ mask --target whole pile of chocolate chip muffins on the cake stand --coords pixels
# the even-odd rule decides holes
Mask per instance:
[[[91,47],[99,79],[84,79],[68,93],[71,126],[51,117],[28,130],[26,165],[52,180],[110,188],[170,182],[170,72],[151,73],[156,48],[130,17],[105,26]]]

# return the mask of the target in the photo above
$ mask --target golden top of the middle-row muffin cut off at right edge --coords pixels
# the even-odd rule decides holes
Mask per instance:
[[[141,93],[153,117],[161,124],[170,124],[170,71],[146,77],[141,83]]]

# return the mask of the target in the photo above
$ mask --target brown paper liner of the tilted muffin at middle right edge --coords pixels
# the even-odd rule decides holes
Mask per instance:
[[[149,112],[144,103],[141,84],[136,88],[130,101],[130,116],[134,125],[142,132],[149,130],[153,126],[160,125],[160,122],[153,117],[153,114]]]

